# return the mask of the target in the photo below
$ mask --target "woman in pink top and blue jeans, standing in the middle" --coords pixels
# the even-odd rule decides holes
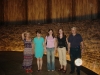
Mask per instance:
[[[46,50],[47,50],[47,69],[48,71],[55,70],[55,50],[56,39],[52,29],[49,29],[48,35],[45,38]]]

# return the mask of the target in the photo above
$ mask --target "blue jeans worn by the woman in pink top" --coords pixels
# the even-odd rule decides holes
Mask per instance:
[[[47,68],[55,70],[55,55],[54,48],[47,48]]]

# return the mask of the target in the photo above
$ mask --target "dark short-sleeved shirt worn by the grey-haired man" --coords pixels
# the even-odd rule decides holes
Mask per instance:
[[[82,37],[80,34],[76,34],[73,36],[72,34],[68,38],[68,42],[70,42],[71,47],[80,47],[80,43],[83,41]]]

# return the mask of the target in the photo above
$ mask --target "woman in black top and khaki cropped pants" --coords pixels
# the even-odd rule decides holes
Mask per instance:
[[[59,62],[60,62],[60,69],[58,71],[63,71],[66,73],[66,43],[67,38],[66,35],[64,35],[64,32],[62,29],[59,29],[59,35],[57,36],[58,41],[58,54],[59,54]]]

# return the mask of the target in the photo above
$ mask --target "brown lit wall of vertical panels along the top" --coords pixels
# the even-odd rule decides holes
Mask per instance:
[[[0,20],[53,23],[96,19],[99,3],[99,0],[0,0]]]

